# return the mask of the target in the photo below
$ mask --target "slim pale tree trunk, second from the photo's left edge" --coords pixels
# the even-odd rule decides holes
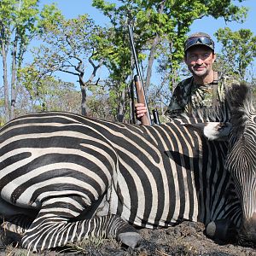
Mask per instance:
[[[10,106],[10,119],[15,118],[15,102],[16,102],[16,93],[15,93],[15,82],[16,82],[16,57],[17,57],[17,43],[18,42],[18,32],[16,29],[15,32],[15,41],[13,48],[13,60],[12,60],[12,77],[11,77],[11,106]]]

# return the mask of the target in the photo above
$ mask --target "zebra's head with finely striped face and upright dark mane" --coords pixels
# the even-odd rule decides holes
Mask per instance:
[[[243,219],[239,243],[256,243],[256,112],[246,84],[233,84],[230,104],[230,140],[225,167],[236,184]]]

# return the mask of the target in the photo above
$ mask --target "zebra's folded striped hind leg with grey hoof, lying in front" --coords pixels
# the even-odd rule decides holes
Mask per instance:
[[[22,237],[22,247],[37,252],[63,247],[68,242],[81,241],[90,236],[117,238],[129,247],[136,247],[141,240],[137,230],[119,216],[96,216],[72,222],[70,209],[61,206],[42,207]]]

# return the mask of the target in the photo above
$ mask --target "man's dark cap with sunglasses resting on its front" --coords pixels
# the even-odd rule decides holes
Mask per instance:
[[[187,51],[190,47],[194,45],[206,45],[214,52],[214,42],[207,33],[196,32],[190,35],[189,38],[185,41],[184,51]]]

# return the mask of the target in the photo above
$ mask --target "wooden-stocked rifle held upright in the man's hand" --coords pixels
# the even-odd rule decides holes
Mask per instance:
[[[136,50],[135,50],[133,36],[132,36],[132,34],[133,34],[132,28],[129,23],[128,23],[128,30],[129,30],[129,37],[130,37],[130,42],[131,42],[132,55],[133,55],[135,67],[137,70],[137,74],[134,76],[134,83],[135,83],[136,92],[137,92],[137,102],[143,103],[144,106],[147,108],[147,114],[143,115],[143,117],[141,118],[141,121],[142,121],[143,125],[152,125],[150,113],[148,110],[147,99],[145,96],[143,81],[142,81],[142,79],[140,79],[142,76],[141,76],[140,69],[139,69],[138,63],[137,63],[137,55],[136,55]],[[133,101],[133,99],[132,99],[132,101]]]

